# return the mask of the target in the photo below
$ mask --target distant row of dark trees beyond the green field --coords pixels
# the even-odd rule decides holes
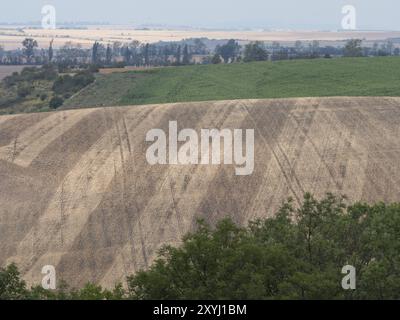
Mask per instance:
[[[5,51],[0,47],[0,64],[46,64],[57,63],[71,67],[82,64],[100,66],[177,66],[194,63],[218,64],[265,60],[313,59],[358,56],[398,56],[400,49],[392,41],[375,43],[373,47],[363,47],[362,40],[351,39],[344,46],[320,46],[318,41],[304,43],[297,41],[293,46],[279,42],[267,44],[261,41],[240,45],[236,40],[217,44],[208,39],[188,39],[180,42],[130,43],[95,42],[92,48],[66,43],[58,49],[53,41],[48,48],[39,48],[36,40],[27,38],[22,49]]]

